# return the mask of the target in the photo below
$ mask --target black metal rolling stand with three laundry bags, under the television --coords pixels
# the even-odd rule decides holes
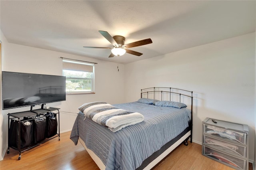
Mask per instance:
[[[32,110],[31,106],[30,111],[8,113],[7,154],[10,153],[10,148],[18,150],[18,160],[20,160],[22,152],[56,137],[60,140],[59,108],[42,109],[42,107]]]

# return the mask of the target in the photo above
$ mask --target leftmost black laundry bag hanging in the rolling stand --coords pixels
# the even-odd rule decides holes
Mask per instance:
[[[9,146],[18,148],[20,137],[20,148],[25,148],[33,144],[33,121],[29,121],[30,125],[25,125],[25,122],[11,120],[9,129]],[[20,131],[19,131],[20,124]]]

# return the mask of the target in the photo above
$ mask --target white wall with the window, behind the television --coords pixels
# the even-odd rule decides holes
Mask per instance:
[[[2,71],[62,75],[62,60],[66,57],[84,61],[96,62],[95,94],[67,95],[66,101],[50,103],[47,106],[60,108],[60,132],[72,129],[78,113],[78,107],[86,102],[106,101],[110,104],[124,102],[124,65],[107,61],[60,53],[46,49],[17,45],[4,42],[2,56]],[[119,68],[119,71],[117,69]],[[38,106],[39,108],[39,106]],[[30,107],[2,110],[2,145],[0,153],[5,154],[8,133],[8,113],[29,110]],[[60,136],[61,138],[61,136]]]

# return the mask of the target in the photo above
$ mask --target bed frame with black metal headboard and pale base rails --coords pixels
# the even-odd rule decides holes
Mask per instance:
[[[167,91],[168,89],[168,91]],[[146,95],[146,97],[145,97]],[[193,111],[193,91],[187,91],[183,89],[177,89],[177,88],[171,88],[171,87],[150,87],[146,89],[141,89],[140,97],[144,98],[150,98],[150,99],[160,99],[162,100],[172,100],[177,101],[179,99],[179,102],[185,103],[183,101],[186,101],[183,97],[186,97],[187,99],[190,99],[191,101],[191,121],[189,122],[189,131],[184,132],[180,135],[178,135],[174,140],[171,140],[166,145],[162,146],[164,151],[159,154],[153,154],[150,157],[148,157],[144,162],[142,162],[142,165],[138,167],[136,170],[150,170],[154,166],[156,166],[162,159],[164,159],[168,154],[170,154],[175,148],[177,148],[182,142],[184,142],[185,145],[188,145],[188,139],[190,138],[190,143],[192,142],[192,111]],[[160,97],[161,96],[161,97]],[[178,96],[178,97],[177,97]],[[188,103],[188,102],[186,102]],[[100,168],[100,170],[104,170],[106,167],[103,164],[103,162],[100,160],[96,154],[90,149],[88,149],[84,143],[83,140],[80,140],[81,144],[84,146],[86,151],[89,153],[89,155],[92,157],[94,162],[97,164],[97,166]],[[161,148],[161,149],[162,149]],[[157,151],[158,152],[158,151]],[[147,162],[150,162],[149,164]]]

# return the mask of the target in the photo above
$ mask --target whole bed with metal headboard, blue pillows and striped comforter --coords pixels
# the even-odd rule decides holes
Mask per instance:
[[[113,106],[140,113],[143,121],[116,132],[80,111],[70,139],[79,140],[101,170],[151,169],[182,142],[192,142],[192,94],[171,87],[141,89],[138,101]]]

